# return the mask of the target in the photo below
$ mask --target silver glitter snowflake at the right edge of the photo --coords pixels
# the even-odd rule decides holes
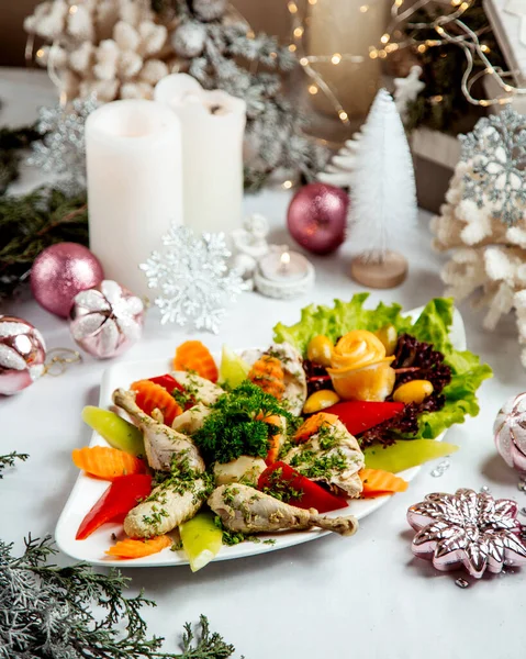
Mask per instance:
[[[526,203],[526,116],[508,105],[500,114],[479,120],[468,135],[460,135],[461,160],[471,163],[466,174],[465,199],[479,209],[490,202],[493,216],[507,225],[523,217]]]

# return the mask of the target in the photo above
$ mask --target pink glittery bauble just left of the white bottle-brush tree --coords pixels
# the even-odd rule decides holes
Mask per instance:
[[[292,198],[287,212],[289,231],[313,254],[331,254],[345,241],[349,196],[327,183],[309,183]]]

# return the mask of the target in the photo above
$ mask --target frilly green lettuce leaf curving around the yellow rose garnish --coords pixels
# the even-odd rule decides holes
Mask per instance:
[[[457,350],[449,339],[452,324],[454,301],[435,298],[430,300],[416,320],[402,315],[400,304],[380,303],[377,309],[363,309],[368,293],[359,293],[349,302],[335,300],[334,308],[311,304],[301,312],[295,325],[278,323],[275,340],[288,342],[305,355],[311,338],[317,334],[328,336],[333,342],[351,330],[374,332],[383,325],[392,324],[399,334],[406,332],[418,340],[433,344],[443,353],[451,368],[451,382],[444,389],[446,404],[438,412],[426,412],[418,418],[418,434],[413,438],[434,439],[455,423],[463,423],[466,416],[477,416],[479,403],[477,390],[482,381],[491,378],[492,370],[481,364],[477,355],[469,350]]]

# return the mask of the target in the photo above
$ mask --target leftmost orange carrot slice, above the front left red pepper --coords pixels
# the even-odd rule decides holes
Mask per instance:
[[[76,467],[83,469],[90,476],[97,476],[104,480],[112,481],[120,476],[146,472],[146,465],[143,460],[109,446],[76,448],[71,457]]]

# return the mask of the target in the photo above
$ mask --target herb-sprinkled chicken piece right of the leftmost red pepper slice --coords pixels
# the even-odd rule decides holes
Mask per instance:
[[[136,505],[124,520],[124,532],[132,538],[163,535],[191,520],[203,504],[205,485],[197,479],[190,487],[161,483]]]

